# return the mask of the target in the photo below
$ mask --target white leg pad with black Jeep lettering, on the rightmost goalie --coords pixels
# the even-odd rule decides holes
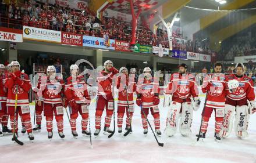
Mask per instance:
[[[249,122],[249,112],[248,112],[248,106],[243,105],[243,106],[237,106],[236,107],[236,114],[235,114],[235,121],[234,121],[234,129],[236,131],[236,136],[237,137],[247,137],[248,132],[247,132],[247,127],[248,127],[248,122]]]

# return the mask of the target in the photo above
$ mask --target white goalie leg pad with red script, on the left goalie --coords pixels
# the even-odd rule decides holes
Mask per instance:
[[[182,108],[181,103],[177,102],[171,102],[169,111],[168,111],[168,117],[167,117],[167,123],[166,123],[166,129],[165,133],[167,136],[173,136],[175,135],[177,131],[177,119],[179,119],[179,113],[180,108]]]

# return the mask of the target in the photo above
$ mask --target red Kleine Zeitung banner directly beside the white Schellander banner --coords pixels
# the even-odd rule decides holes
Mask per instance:
[[[83,46],[83,35],[61,32],[61,44]]]

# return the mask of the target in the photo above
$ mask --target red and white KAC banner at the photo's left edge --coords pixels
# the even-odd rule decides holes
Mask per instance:
[[[22,30],[0,27],[0,41],[23,42]]]

